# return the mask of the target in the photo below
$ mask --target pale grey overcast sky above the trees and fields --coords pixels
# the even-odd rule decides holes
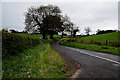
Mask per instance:
[[[2,4],[2,6],[1,6]],[[70,17],[71,21],[79,26],[80,32],[77,34],[84,34],[84,28],[90,27],[91,34],[96,33],[97,29],[108,30],[118,29],[118,2],[77,2],[74,0],[66,2],[2,2],[0,3],[0,10],[2,20],[0,26],[2,28],[15,29],[22,31],[25,28],[24,14],[31,6],[40,5],[57,5],[62,14]]]

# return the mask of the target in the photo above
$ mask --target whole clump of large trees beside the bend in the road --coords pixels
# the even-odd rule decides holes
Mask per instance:
[[[63,16],[59,7],[53,5],[29,8],[25,14],[25,25],[25,31],[41,33],[43,39],[47,38],[47,34],[53,39],[58,32],[62,32],[62,37],[64,32],[71,32],[75,36],[78,31],[69,17]]]

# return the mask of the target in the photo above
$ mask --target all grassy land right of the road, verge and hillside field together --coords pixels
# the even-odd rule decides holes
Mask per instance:
[[[110,42],[116,42],[118,44],[120,35],[118,35],[118,32],[108,33],[108,34],[102,34],[102,35],[93,35],[93,36],[87,36],[87,37],[81,37],[76,38],[76,41],[70,42],[66,39],[63,39],[64,41],[61,41],[60,44],[75,48],[82,48],[82,49],[88,49],[88,50],[94,50],[94,51],[100,51],[100,52],[107,52],[115,55],[120,55],[119,50],[120,47],[115,47],[114,45],[106,45],[105,41]],[[68,38],[67,38],[68,39]],[[91,43],[91,41],[93,41]],[[94,43],[94,41],[96,43]],[[100,45],[98,44],[100,43]],[[115,44],[115,45],[116,45]]]

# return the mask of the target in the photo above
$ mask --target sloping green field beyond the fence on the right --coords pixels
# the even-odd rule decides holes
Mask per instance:
[[[93,35],[93,36],[87,36],[87,37],[81,37],[77,38],[77,42],[99,42],[102,45],[112,45],[115,46],[120,43],[120,40],[118,39],[120,37],[120,32],[113,32],[113,33],[107,33],[107,34],[101,34],[101,35]],[[106,42],[107,41],[107,42]]]

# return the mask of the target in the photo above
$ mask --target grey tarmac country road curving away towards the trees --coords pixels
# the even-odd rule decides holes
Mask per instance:
[[[51,44],[63,57],[77,61],[81,72],[78,78],[119,78],[120,56]]]

